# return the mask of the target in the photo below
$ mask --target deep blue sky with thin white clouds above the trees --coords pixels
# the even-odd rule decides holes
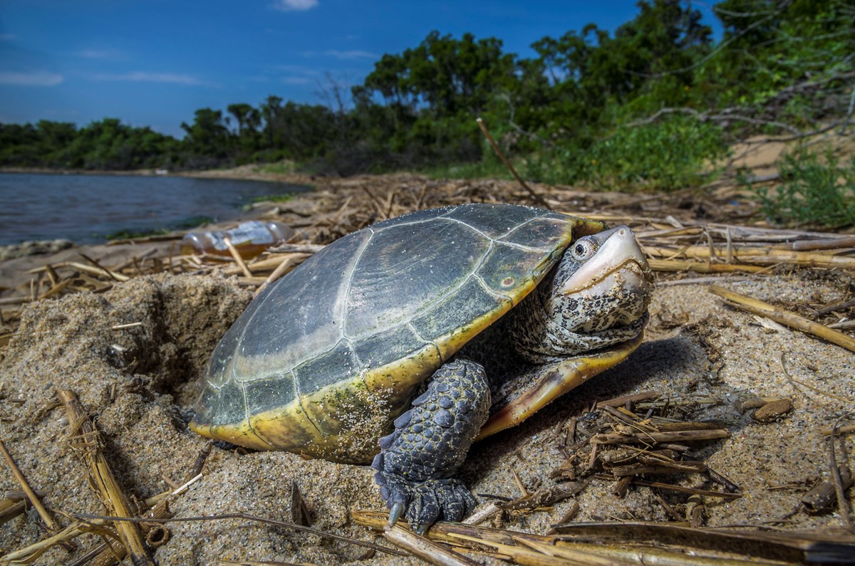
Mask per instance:
[[[432,30],[533,56],[544,36],[636,13],[635,0],[0,0],[0,122],[115,117],[180,136],[203,107],[324,103],[327,77],[360,84]]]

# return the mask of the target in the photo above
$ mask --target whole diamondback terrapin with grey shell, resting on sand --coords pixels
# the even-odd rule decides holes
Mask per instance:
[[[652,274],[628,227],[466,204],[351,233],[262,292],[217,345],[191,428],[261,450],[373,460],[423,530],[475,499],[454,474],[640,345]]]

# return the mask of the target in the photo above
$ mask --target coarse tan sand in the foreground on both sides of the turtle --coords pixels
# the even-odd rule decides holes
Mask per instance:
[[[721,284],[775,304],[817,306],[855,292],[851,272],[806,268],[782,267]],[[62,407],[46,409],[56,387],[76,392],[96,417],[109,464],[129,496],[144,499],[167,490],[164,478],[185,481],[205,445],[186,427],[196,380],[216,341],[250,300],[251,293],[234,278],[161,274],[134,278],[101,294],[77,293],[27,306],[0,361],[0,438],[31,486],[49,491],[44,504],[62,513],[103,512],[79,455],[68,446]],[[785,516],[817,479],[828,477],[828,440],[820,431],[852,410],[855,354],[789,328],[770,328],[722,305],[705,284],[658,286],[651,313],[646,343],[627,363],[570,392],[522,426],[475,445],[462,474],[472,491],[518,497],[512,470],[529,488],[554,484],[550,473],[564,461],[563,424],[584,416],[594,401],[651,389],[675,400],[716,399],[686,418],[720,420],[730,437],[702,443],[696,454],[740,486],[744,496],[726,502],[708,499],[709,525],[756,524]],[[793,383],[782,362],[794,380],[823,393]],[[792,398],[793,410],[774,422],[754,422],[740,403],[758,396]],[[855,466],[851,442],[846,451],[839,460]],[[179,517],[245,512],[291,521],[292,482],[308,504],[314,528],[388,544],[350,518],[352,510],[383,508],[369,468],[287,453],[215,447],[202,479],[175,497],[170,509]],[[710,487],[700,476],[682,483]],[[0,489],[16,488],[12,475],[0,475]],[[611,489],[607,481],[587,486],[575,498],[581,506],[575,521],[669,520],[651,489],[633,487],[622,499]],[[666,497],[672,503],[685,501]],[[505,527],[543,534],[573,501],[511,518]],[[842,524],[836,512],[813,516],[799,510],[787,528]],[[161,564],[220,559],[421,563],[382,553],[372,556],[355,545],[246,521],[170,523],[168,529],[170,539],[154,554]],[[38,529],[27,516],[0,526],[0,551],[37,540]],[[54,548],[38,563],[69,563],[98,542],[89,537],[80,539],[75,551]]]

